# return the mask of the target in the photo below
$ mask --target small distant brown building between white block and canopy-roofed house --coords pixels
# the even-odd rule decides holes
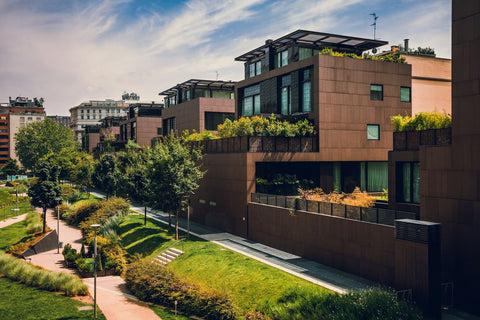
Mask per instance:
[[[150,146],[153,137],[163,134],[162,111],[163,104],[160,103],[131,104],[126,120],[120,123],[120,140]]]

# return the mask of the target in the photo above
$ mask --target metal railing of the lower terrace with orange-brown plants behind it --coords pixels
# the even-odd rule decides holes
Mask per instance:
[[[252,193],[251,202],[389,226],[393,226],[396,219],[418,220],[417,214],[414,212],[305,200],[296,196]]]

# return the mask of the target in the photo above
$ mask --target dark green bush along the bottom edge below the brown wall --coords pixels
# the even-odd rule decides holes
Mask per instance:
[[[418,309],[383,289],[323,295],[313,289],[288,288],[275,301],[266,300],[262,311],[274,319],[422,319]]]

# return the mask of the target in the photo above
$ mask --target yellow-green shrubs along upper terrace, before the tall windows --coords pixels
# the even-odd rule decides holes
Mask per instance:
[[[218,125],[218,132],[203,131],[202,133],[184,132],[186,141],[202,141],[219,138],[270,136],[270,137],[308,137],[315,135],[315,128],[307,119],[296,123],[278,120],[274,115],[270,118],[263,116],[241,117],[238,120],[227,119]]]

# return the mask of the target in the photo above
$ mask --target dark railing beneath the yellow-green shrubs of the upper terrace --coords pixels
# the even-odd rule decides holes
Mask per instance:
[[[227,152],[318,152],[315,137],[234,137],[194,142],[206,153]]]

